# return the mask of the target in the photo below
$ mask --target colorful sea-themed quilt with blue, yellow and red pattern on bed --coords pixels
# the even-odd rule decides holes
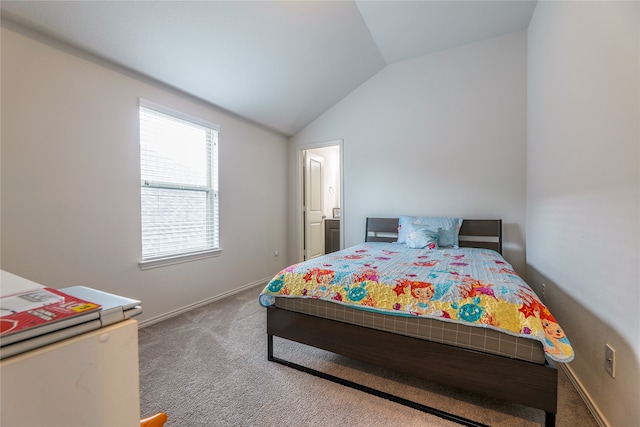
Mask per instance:
[[[558,362],[573,349],[533,290],[489,249],[410,249],[363,243],[292,265],[260,295],[319,298],[397,316],[423,316],[536,339]]]

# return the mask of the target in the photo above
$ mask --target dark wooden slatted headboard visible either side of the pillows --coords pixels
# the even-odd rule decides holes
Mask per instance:
[[[398,240],[398,218],[367,218],[365,242]],[[487,248],[502,253],[501,219],[465,219],[458,235],[461,248]]]

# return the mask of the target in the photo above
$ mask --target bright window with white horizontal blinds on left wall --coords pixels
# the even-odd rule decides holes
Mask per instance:
[[[218,131],[140,100],[141,268],[219,253]]]

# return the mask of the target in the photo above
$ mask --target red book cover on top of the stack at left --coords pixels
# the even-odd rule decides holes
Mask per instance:
[[[8,295],[0,298],[0,337],[68,319],[100,307],[100,304],[53,288]]]

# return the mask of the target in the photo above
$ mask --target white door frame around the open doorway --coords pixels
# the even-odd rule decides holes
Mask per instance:
[[[324,148],[338,146],[340,153],[340,161],[338,164],[338,170],[340,171],[340,247],[344,247],[344,140],[335,139],[332,141],[317,142],[311,144],[298,145],[296,156],[296,245],[295,251],[296,260],[294,262],[301,262],[304,260],[304,151],[313,150],[314,148]]]

